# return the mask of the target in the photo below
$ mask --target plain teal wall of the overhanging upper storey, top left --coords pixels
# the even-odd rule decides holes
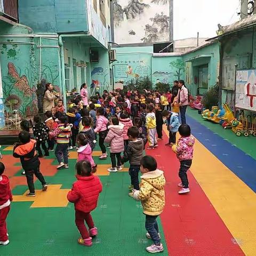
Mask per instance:
[[[88,31],[86,0],[19,0],[19,21],[36,33]]]

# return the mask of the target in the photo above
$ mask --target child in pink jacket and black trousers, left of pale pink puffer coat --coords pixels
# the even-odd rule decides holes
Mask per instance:
[[[104,145],[104,140],[107,136],[108,119],[104,116],[104,108],[102,107],[97,108],[96,115],[97,115],[97,121],[96,121],[96,128],[94,129],[94,132],[99,133],[99,146],[102,152],[102,155],[99,158],[106,159],[107,151]]]

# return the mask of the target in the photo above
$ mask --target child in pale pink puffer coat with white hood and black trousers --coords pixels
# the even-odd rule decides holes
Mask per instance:
[[[110,125],[108,126],[108,129],[109,132],[105,139],[105,142],[110,143],[110,158],[112,164],[112,167],[109,168],[108,171],[117,172],[117,170],[122,170],[121,153],[124,151],[124,125],[122,123],[119,123],[118,118],[116,116],[113,116],[110,119]]]

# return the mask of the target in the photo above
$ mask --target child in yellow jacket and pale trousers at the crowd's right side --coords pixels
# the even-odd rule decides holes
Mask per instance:
[[[148,105],[147,106],[147,116],[146,116],[146,127],[147,127],[147,134],[148,134],[148,147],[147,149],[154,149],[158,147],[157,140],[156,140],[156,116],[153,112],[154,106]]]

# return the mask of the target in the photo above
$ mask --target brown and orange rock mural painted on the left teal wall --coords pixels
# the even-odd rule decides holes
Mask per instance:
[[[29,68],[25,68],[22,75],[12,62],[8,63],[7,68],[7,76],[2,78],[5,110],[19,109],[23,117],[34,115],[38,112],[37,96],[36,87],[30,87]]]

